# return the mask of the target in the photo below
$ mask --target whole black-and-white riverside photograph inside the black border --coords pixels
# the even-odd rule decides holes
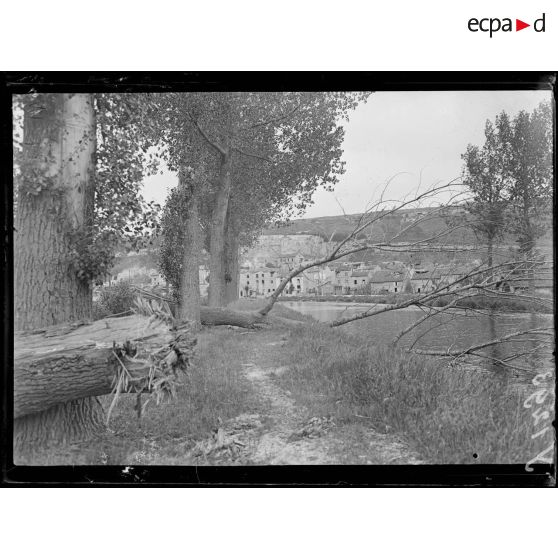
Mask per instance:
[[[552,91],[184,89],[11,97],[14,463],[553,464]]]

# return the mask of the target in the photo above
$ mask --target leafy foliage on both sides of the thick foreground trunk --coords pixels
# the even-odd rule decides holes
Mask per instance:
[[[61,127],[61,94],[31,93],[14,96],[14,197],[37,196],[49,190],[56,194],[58,173],[55,154],[43,166],[28,164],[19,141],[21,114],[25,107],[45,110],[53,107],[56,118],[51,132]],[[139,249],[148,245],[158,230],[160,208],[146,202],[140,189],[146,174],[155,172],[158,153],[153,150],[156,141],[152,133],[150,114],[143,98],[131,94],[103,93],[93,95],[96,115],[96,138],[83,137],[81,148],[88,141],[96,140],[95,198],[93,221],[72,235],[69,261],[75,273],[85,281],[94,281],[109,272],[114,263],[116,248]],[[16,202],[17,203],[17,202]],[[61,222],[65,207],[59,204]]]

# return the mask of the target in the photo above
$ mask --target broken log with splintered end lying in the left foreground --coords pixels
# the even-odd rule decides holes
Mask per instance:
[[[143,390],[154,368],[157,374],[185,370],[194,345],[186,328],[139,315],[16,332],[14,418],[108,394],[123,369],[127,384]]]

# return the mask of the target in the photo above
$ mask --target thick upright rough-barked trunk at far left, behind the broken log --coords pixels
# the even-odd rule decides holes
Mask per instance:
[[[92,222],[94,172],[92,96],[44,94],[29,100],[15,235],[16,329],[91,315],[92,289],[77,275],[72,237]],[[98,401],[72,401],[16,419],[14,441],[19,447],[82,439],[101,424]]]

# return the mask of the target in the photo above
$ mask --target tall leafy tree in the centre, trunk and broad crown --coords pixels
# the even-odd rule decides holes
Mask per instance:
[[[336,183],[344,170],[342,121],[367,96],[335,92],[162,97],[159,113],[170,130],[164,135],[167,142],[171,139],[169,159],[175,166],[197,169],[202,164],[209,186],[210,306],[222,306],[236,296],[234,238],[261,228],[277,208],[303,209],[318,186],[332,188]],[[231,208],[235,197],[242,203]],[[254,226],[247,228],[244,222]],[[228,246],[227,237],[233,239]]]

